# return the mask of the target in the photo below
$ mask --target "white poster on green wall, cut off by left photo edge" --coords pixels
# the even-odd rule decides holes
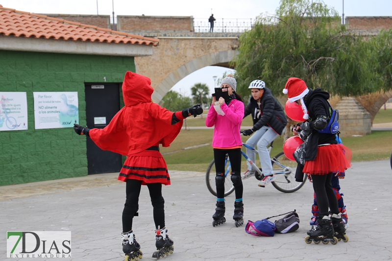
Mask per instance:
[[[0,131],[27,130],[25,92],[0,92]]]

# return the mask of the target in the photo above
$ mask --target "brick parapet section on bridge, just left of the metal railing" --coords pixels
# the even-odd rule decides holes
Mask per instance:
[[[119,31],[193,31],[193,17],[117,16]]]

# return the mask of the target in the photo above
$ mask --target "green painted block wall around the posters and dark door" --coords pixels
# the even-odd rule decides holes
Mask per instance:
[[[0,91],[26,92],[28,110],[28,130],[0,131],[0,186],[87,175],[84,136],[34,129],[33,92],[78,92],[85,125],[84,83],[106,77],[121,90],[126,71],[135,71],[133,57],[0,50]]]

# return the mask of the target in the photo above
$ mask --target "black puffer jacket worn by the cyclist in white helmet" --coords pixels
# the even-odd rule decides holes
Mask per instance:
[[[260,116],[258,115],[260,113]],[[252,114],[253,130],[261,127],[270,126],[277,134],[281,135],[287,124],[286,115],[282,106],[272,96],[270,89],[264,88],[264,94],[260,98],[260,108],[257,101],[250,97],[249,104],[245,107],[245,116]]]

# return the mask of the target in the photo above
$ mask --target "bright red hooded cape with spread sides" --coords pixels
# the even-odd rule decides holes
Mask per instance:
[[[173,113],[151,102],[151,80],[127,71],[123,81],[123,107],[103,129],[91,129],[90,138],[103,150],[132,155],[177,137],[183,121],[172,125]]]

